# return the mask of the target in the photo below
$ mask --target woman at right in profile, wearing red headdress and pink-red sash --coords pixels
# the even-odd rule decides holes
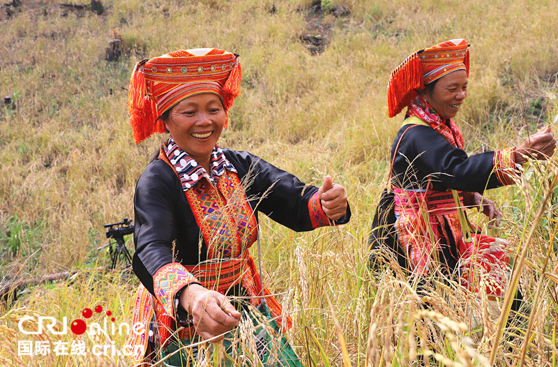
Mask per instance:
[[[405,121],[393,141],[388,188],[376,212],[372,249],[386,243],[415,276],[448,274],[479,290],[485,274],[489,295],[500,296],[508,255],[499,239],[471,233],[463,207],[477,207],[497,225],[500,214],[486,189],[513,184],[528,157],[548,159],[556,140],[550,126],[520,147],[467,156],[452,120],[467,98],[469,45],[455,39],[410,55],[393,70],[389,117],[404,108]]]

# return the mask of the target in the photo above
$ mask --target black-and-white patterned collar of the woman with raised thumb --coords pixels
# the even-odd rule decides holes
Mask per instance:
[[[223,150],[217,144],[211,152],[211,174],[206,172],[204,167],[190,157],[188,153],[180,149],[172,137],[169,137],[169,140],[163,143],[163,150],[179,175],[183,191],[197,184],[202,177],[206,177],[209,181],[215,183],[225,170],[236,172],[236,168],[227,160]]]

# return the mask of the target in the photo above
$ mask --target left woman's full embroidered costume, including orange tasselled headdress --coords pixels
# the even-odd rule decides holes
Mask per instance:
[[[227,111],[239,95],[240,78],[238,55],[217,49],[179,50],[137,63],[129,101],[135,141],[165,132],[158,117],[198,93],[216,93]],[[137,181],[134,209],[133,269],[142,285],[135,299],[133,323],[146,327],[144,334],[133,335],[128,343],[130,350],[141,345],[140,352],[133,355],[135,361],[149,361],[153,350],[166,354],[176,350],[178,339],[186,345],[199,340],[195,325],[178,304],[179,292],[192,283],[223,294],[252,297],[252,306],[276,320],[275,332],[280,338],[291,321],[288,317],[281,320],[281,306],[262,287],[249,251],[258,237],[258,212],[296,231],[333,224],[322,210],[317,188],[306,186],[292,174],[246,151],[218,145],[211,153],[211,172],[206,172],[172,137]],[[335,223],[347,223],[349,217],[347,209],[347,215]],[[273,343],[269,335],[262,339],[262,332],[257,334],[255,353],[264,366],[301,366],[285,340],[277,344],[278,350],[264,355],[262,350],[269,351]],[[233,357],[235,352],[227,350]],[[186,365],[197,358],[197,348],[188,353],[192,358]],[[289,358],[292,360],[285,361]],[[185,360],[176,362],[181,363]]]

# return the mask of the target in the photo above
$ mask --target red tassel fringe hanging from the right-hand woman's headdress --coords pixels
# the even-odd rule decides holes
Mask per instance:
[[[407,107],[417,96],[416,90],[423,88],[421,59],[418,58],[418,52],[415,52],[391,73],[388,84],[389,117],[394,117]]]

